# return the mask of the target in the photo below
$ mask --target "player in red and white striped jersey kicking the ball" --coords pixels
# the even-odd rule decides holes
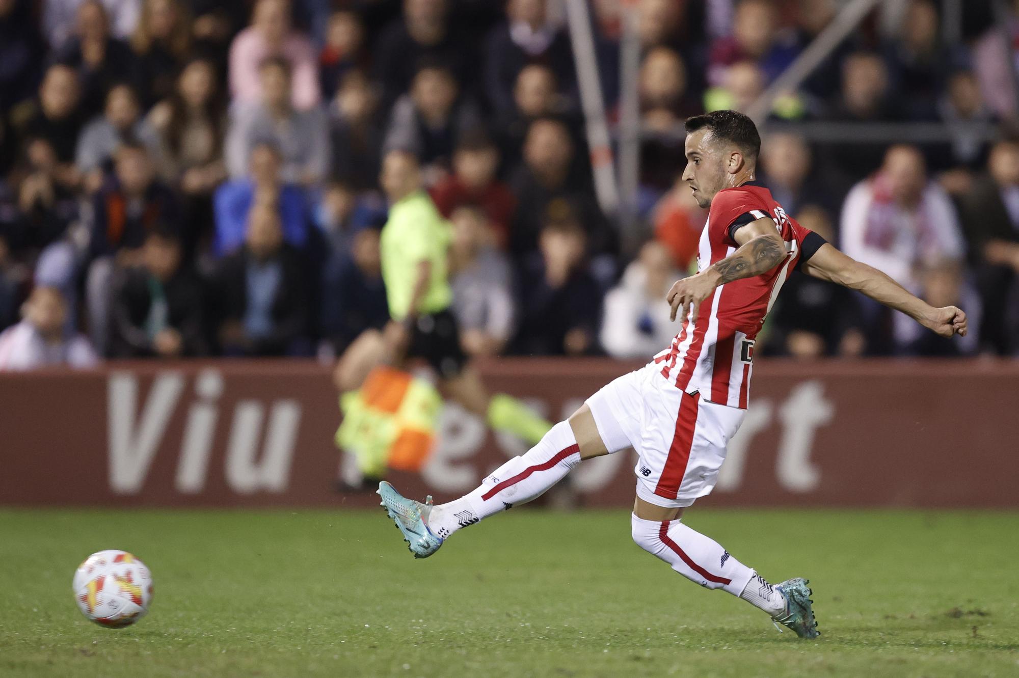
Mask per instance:
[[[378,493],[411,551],[425,558],[458,529],[538,497],[581,460],[632,446],[640,455],[634,541],[685,577],[738,596],[776,625],[814,638],[807,580],[772,585],[681,520],[714,488],[727,443],[746,413],[754,337],[794,269],[859,290],[943,337],[965,335],[966,315],[932,307],[786,214],[754,180],[760,136],[750,118],[715,111],[689,118],[686,129],[683,179],[710,211],[697,274],[668,291],[674,320],[677,312],[682,319],[672,345],[588,398],[470,494],[432,506],[401,497],[388,483]]]

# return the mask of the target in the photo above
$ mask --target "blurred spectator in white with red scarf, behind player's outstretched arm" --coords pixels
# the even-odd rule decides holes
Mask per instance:
[[[923,156],[910,146],[889,149],[880,170],[849,192],[840,238],[847,255],[887,273],[930,303],[934,303],[929,295],[933,290],[928,285],[948,296],[942,286],[950,282],[965,253],[951,200],[927,180]],[[868,325],[879,333],[879,307],[865,299],[863,309]],[[904,349],[919,333],[902,314],[894,322],[894,344]],[[871,345],[880,350],[881,340],[876,336]]]

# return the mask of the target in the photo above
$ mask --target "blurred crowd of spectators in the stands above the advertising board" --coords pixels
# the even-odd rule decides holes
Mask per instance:
[[[621,5],[590,3],[613,132]],[[759,178],[977,331],[942,341],[796,276],[763,350],[1019,350],[1019,18],[1001,31],[989,0],[964,5],[949,43],[941,3],[881,3],[775,101]],[[469,354],[652,354],[706,218],[679,181],[683,119],[745,110],[839,4],[636,7],[646,237],[630,251],[595,197],[559,0],[0,0],[0,369],[337,354],[387,320],[390,153],[417,158],[452,224]],[[800,122],[945,135],[812,140]]]

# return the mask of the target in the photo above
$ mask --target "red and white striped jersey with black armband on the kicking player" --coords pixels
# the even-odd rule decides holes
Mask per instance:
[[[809,259],[824,243],[787,215],[770,190],[751,181],[720,190],[711,201],[701,232],[697,270],[703,271],[736,251],[736,230],[764,217],[774,221],[786,241],[786,259],[767,273],[716,287],[701,303],[697,322],[685,318],[672,345],[653,360],[661,365],[662,377],[677,388],[687,393],[700,391],[702,399],[719,405],[746,408],[754,338],[801,258]]]

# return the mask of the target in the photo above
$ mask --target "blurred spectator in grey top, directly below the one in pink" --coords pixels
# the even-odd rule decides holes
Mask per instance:
[[[279,2],[279,0],[262,0]],[[272,57],[261,67],[262,101],[236,105],[226,135],[226,169],[243,176],[252,149],[271,142],[282,154],[281,178],[287,183],[314,186],[329,166],[329,131],[319,108],[290,106],[290,70],[284,59]]]

